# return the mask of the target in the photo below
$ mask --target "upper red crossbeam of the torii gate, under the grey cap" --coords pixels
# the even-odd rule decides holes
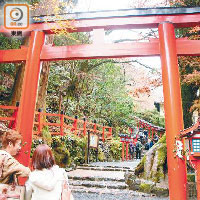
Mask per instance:
[[[89,32],[93,29],[137,29],[137,28],[157,28],[163,21],[172,22],[176,28],[191,27],[199,25],[200,14],[171,14],[171,15],[149,15],[149,16],[125,16],[125,17],[108,17],[80,19],[71,22],[74,29],[70,32]],[[54,22],[30,24],[28,31],[42,30],[47,34],[54,33],[52,27],[60,29],[60,26]],[[5,29],[0,26],[1,32]]]

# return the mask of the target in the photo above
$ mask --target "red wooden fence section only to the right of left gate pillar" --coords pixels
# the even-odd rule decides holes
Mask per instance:
[[[45,121],[43,121],[44,116],[46,118]],[[51,117],[54,118],[53,120],[55,122],[50,122]],[[75,119],[64,114],[35,112],[35,118],[36,121],[34,122],[33,131],[35,135],[40,135],[42,128],[48,126],[50,127],[49,130],[52,135],[67,135],[68,130],[70,134],[82,137],[86,136],[87,131],[90,130],[91,132],[98,134],[103,142],[112,138],[112,127],[103,126],[86,120]],[[68,122],[65,122],[64,119],[68,119]]]

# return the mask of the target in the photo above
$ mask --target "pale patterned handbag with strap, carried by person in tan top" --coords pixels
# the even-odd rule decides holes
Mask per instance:
[[[6,156],[2,159],[2,163],[0,165],[0,177],[3,174],[3,167],[4,167],[4,161],[6,159]],[[24,186],[18,186],[14,182],[13,184],[0,184],[0,194],[5,195],[5,197],[9,200],[24,200],[24,193],[25,193],[25,187]]]

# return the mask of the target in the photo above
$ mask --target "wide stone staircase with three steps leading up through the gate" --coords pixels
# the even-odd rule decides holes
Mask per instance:
[[[132,194],[125,184],[124,174],[132,172],[138,161],[130,162],[130,166],[123,166],[123,162],[109,165],[109,163],[93,163],[78,166],[68,173],[69,184],[73,193],[96,194]],[[138,192],[137,192],[138,195]]]

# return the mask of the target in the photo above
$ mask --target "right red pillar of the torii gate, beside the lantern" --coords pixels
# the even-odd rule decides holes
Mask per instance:
[[[163,22],[158,27],[164,91],[165,129],[170,200],[186,200],[185,161],[175,156],[175,137],[183,130],[183,111],[174,26]]]

